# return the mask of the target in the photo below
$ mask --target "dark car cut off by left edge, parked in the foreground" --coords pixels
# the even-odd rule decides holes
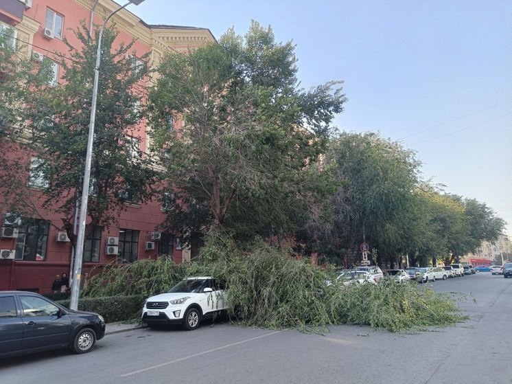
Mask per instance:
[[[0,358],[64,347],[85,353],[104,335],[97,313],[64,308],[38,293],[0,291]]]

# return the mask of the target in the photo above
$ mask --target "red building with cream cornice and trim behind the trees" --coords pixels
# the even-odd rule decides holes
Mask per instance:
[[[9,37],[9,43],[15,45],[26,60],[51,58],[53,52],[66,54],[64,36],[71,44],[80,44],[70,28],[78,27],[80,21],[89,25],[91,15],[93,22],[101,25],[104,17],[117,8],[119,5],[111,0],[1,0],[0,33]],[[152,66],[157,65],[169,49],[185,52],[190,46],[215,41],[207,29],[148,25],[128,10],[115,14],[112,21],[119,32],[114,45],[135,40],[133,49],[139,55],[149,54]],[[57,62],[53,69],[58,83],[62,69]],[[141,86],[144,85],[141,80]],[[175,126],[179,128],[180,122],[175,122]],[[147,128],[141,124],[137,132],[143,151],[149,147]],[[30,174],[20,177],[25,177],[34,205],[40,206],[37,179]],[[2,199],[0,196],[0,208]],[[127,205],[126,212],[117,218],[117,227],[97,228],[86,238],[83,272],[101,268],[118,258],[132,262],[163,254],[176,262],[189,259],[190,251],[181,249],[178,238],[155,230],[163,218],[159,201]],[[57,229],[62,223],[56,215],[39,211],[38,217],[19,217],[5,212],[4,208],[0,220],[0,290],[49,293],[56,275],[70,274],[72,247],[65,232]]]

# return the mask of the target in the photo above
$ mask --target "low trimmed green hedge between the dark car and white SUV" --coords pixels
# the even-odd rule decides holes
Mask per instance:
[[[102,315],[107,323],[138,319],[146,297],[143,295],[82,297],[78,301],[78,310],[95,312]],[[58,304],[69,308],[69,300]]]

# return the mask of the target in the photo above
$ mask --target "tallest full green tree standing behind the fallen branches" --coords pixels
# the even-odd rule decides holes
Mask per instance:
[[[294,45],[256,22],[244,37],[229,30],[163,60],[150,116],[170,188],[167,225],[185,241],[219,228],[252,238],[303,225],[315,200],[308,170],[345,97],[339,82],[299,89],[296,71]],[[170,124],[175,117],[183,125]]]

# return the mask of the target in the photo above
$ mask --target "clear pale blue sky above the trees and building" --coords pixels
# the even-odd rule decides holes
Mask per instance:
[[[345,82],[340,131],[415,150],[423,179],[487,204],[512,235],[512,1],[146,0],[128,10],[216,38],[270,25],[296,45],[301,87]]]

